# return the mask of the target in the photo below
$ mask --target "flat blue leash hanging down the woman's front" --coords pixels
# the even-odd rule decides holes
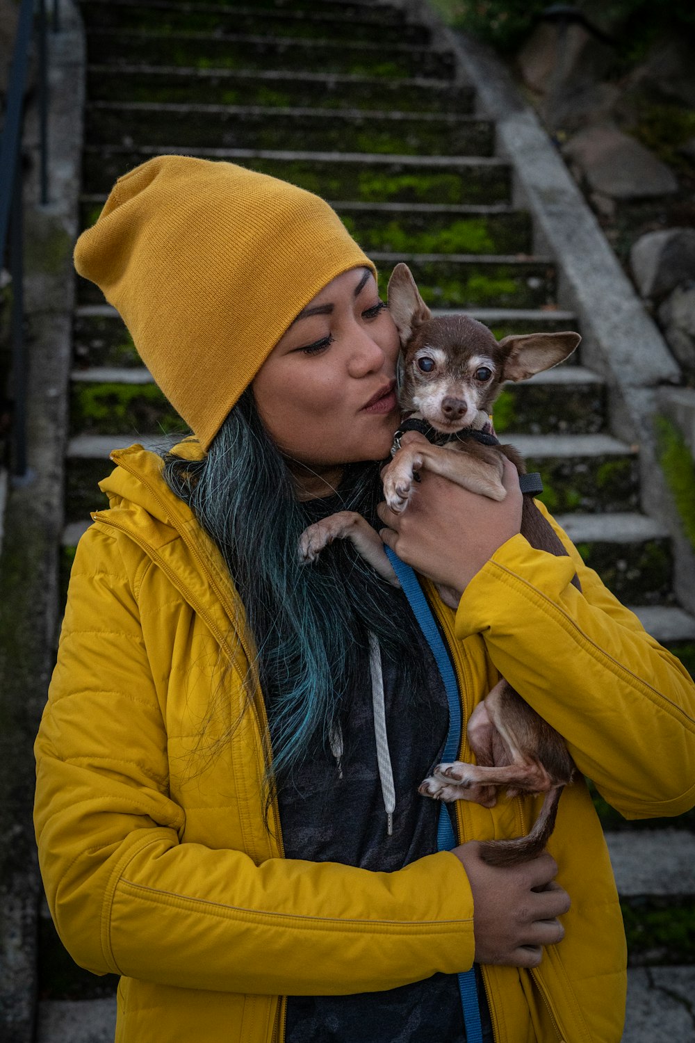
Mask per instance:
[[[437,660],[439,672],[442,675],[446,697],[449,703],[449,733],[444,747],[443,760],[455,760],[458,756],[458,746],[461,743],[461,701],[458,698],[458,685],[456,675],[453,672],[451,660],[442,640],[435,616],[427,604],[427,600],[422,592],[418,579],[411,568],[400,560],[400,558],[386,547],[384,551],[389,556],[389,561],[394,567],[396,576],[407,598],[408,604],[415,613],[420,629],[427,639],[432,655]],[[451,817],[447,804],[440,805],[440,818],[437,827],[437,846],[440,851],[450,851],[456,846],[456,838],[451,823]],[[475,971],[471,967],[470,971],[464,971],[457,975],[461,1001],[464,1008],[464,1023],[466,1025],[466,1043],[482,1043],[482,1028],[480,1025],[480,1009],[478,1006],[478,993],[475,985]]]

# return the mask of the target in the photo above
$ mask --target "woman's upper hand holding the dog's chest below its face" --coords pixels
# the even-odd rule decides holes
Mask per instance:
[[[379,535],[402,561],[461,598],[495,551],[520,530],[523,498],[517,469],[504,461],[507,494],[502,501],[469,492],[424,469],[402,513],[378,505],[377,514],[388,527]]]

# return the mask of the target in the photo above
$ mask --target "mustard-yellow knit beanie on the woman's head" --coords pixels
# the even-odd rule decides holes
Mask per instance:
[[[159,155],[75,247],[203,448],[282,334],[363,253],[327,202],[230,163]]]

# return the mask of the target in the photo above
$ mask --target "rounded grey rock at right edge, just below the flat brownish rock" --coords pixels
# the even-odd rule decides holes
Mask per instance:
[[[643,297],[659,299],[695,280],[695,228],[665,228],[640,236],[629,256]]]

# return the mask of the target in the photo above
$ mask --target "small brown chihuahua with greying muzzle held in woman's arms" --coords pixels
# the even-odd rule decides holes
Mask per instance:
[[[399,403],[404,416],[393,460],[382,474],[389,507],[396,513],[406,509],[423,469],[503,500],[503,457],[520,475],[525,467],[517,451],[500,445],[492,432],[490,412],[501,385],[557,365],[581,338],[576,333],[541,333],[496,341],[486,325],[468,315],[432,318],[404,264],[396,266],[389,282],[389,309],[401,340]],[[403,429],[420,435],[405,435]],[[537,550],[567,553],[526,492],[521,533]],[[345,538],[398,585],[378,534],[351,511],[309,526],[302,534],[300,554],[304,561],[314,561],[327,543]],[[573,583],[580,589],[576,576]],[[455,592],[439,589],[446,604],[457,608]],[[438,765],[420,793],[444,801],[472,800],[486,807],[494,806],[501,786],[507,796],[545,793],[528,835],[480,845],[481,857],[492,866],[514,866],[536,857],[552,832],[563,789],[576,772],[564,739],[504,680],[476,707],[467,731],[476,763]]]

